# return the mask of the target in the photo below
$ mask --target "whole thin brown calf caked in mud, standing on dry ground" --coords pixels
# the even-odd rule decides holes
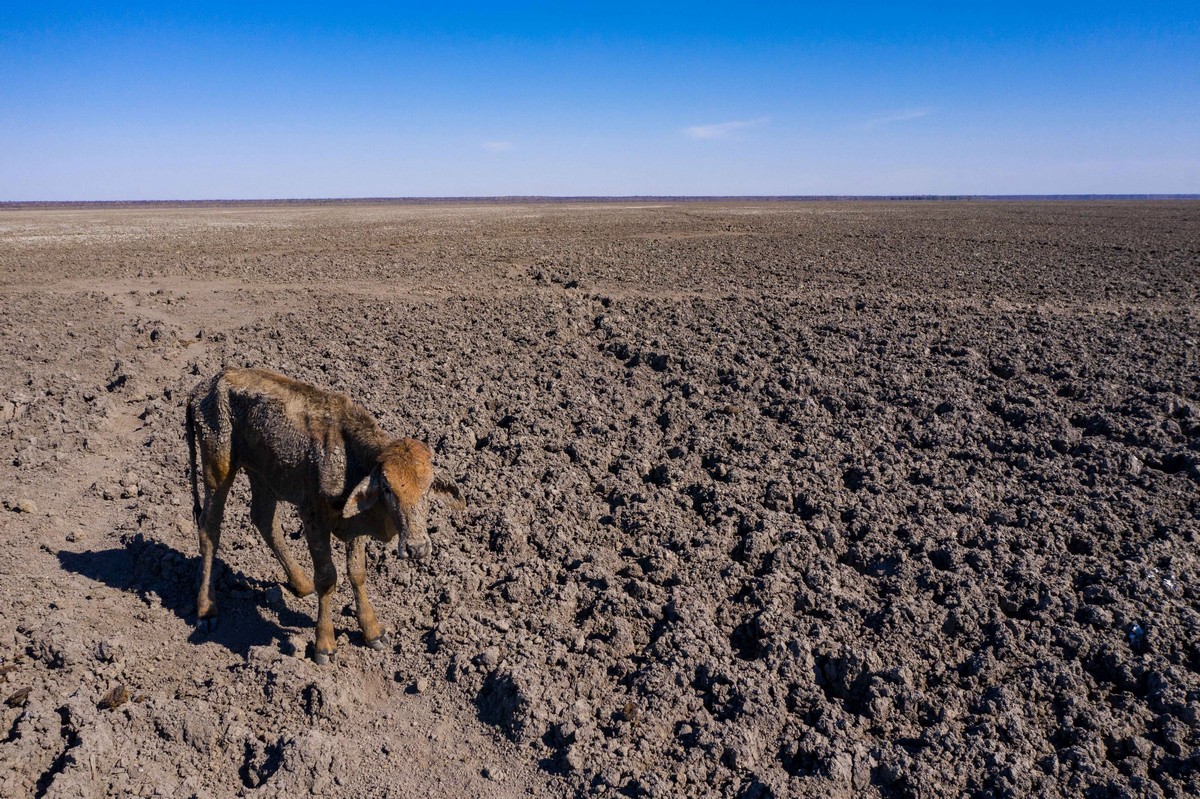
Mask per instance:
[[[430,494],[449,494],[461,503],[452,482],[434,477],[430,447],[410,438],[390,439],[346,395],[265,370],[229,368],[196,386],[186,432],[200,540],[200,626],[211,629],[215,621],[212,563],[221,519],[233,480],[245,470],[251,518],[283,565],[288,588],[304,596],[316,587],[319,595],[314,657],[324,662],[334,653],[330,600],[337,571],[330,536],[346,543],[359,625],[367,643],[379,647],[383,629],[364,589],[362,536],[390,541],[398,534],[409,554],[422,557],[431,548]],[[293,503],[300,513],[312,581],[284,546],[278,501]]]

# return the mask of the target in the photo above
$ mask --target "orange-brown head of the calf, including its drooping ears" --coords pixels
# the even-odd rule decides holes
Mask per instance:
[[[449,497],[462,506],[462,494],[452,481],[437,477],[428,445],[412,438],[398,438],[383,449],[378,462],[354,487],[342,510],[343,518],[359,513],[379,517],[372,535],[391,541],[400,535],[396,552],[424,558],[433,548],[427,528],[430,497]]]

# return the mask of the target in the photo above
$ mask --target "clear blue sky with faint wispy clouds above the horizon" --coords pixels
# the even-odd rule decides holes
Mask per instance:
[[[1198,0],[0,4],[0,200],[1168,192]]]

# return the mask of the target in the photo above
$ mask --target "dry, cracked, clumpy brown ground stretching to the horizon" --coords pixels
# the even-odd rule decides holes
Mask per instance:
[[[10,208],[0,308],[0,795],[1200,793],[1200,203]],[[244,477],[193,630],[223,365],[457,479],[394,651]]]

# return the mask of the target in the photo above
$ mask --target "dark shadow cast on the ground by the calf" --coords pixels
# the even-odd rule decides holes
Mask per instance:
[[[137,594],[148,605],[157,601],[188,624],[196,621],[196,591],[200,559],[185,555],[140,533],[122,539],[125,546],[91,552],[59,552],[59,564],[67,571],[118,590]],[[245,656],[251,647],[284,641],[287,627],[312,629],[312,617],[275,603],[277,620],[264,615],[278,583],[250,577],[220,560],[217,591],[221,594],[221,621],[212,632],[193,630],[188,642],[211,641]],[[274,589],[274,590],[272,590]],[[281,626],[282,625],[282,626]]]

